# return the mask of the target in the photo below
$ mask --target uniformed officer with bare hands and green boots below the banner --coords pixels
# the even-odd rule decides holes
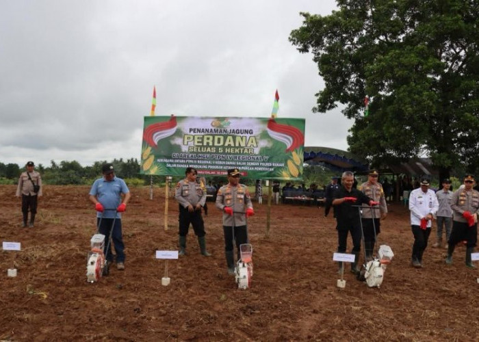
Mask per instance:
[[[206,202],[206,191],[196,182],[197,172],[194,168],[186,168],[185,174],[186,178],[178,182],[174,192],[174,198],[179,203],[179,255],[186,254],[186,235],[192,224],[201,254],[211,257],[206,250],[205,224],[201,215],[201,208]]]

